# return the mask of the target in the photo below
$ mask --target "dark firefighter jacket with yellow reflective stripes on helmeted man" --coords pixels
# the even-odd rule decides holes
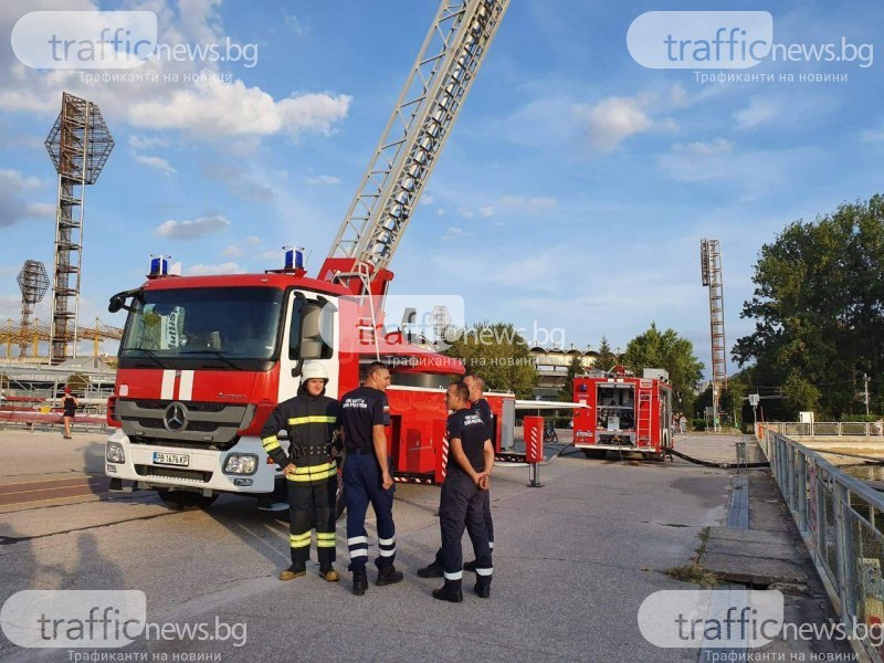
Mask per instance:
[[[295,398],[280,403],[267,417],[261,444],[280,467],[295,466],[288,481],[316,485],[337,474],[332,452],[333,448],[340,450],[339,428],[340,403],[327,396],[312,396],[302,386]],[[276,436],[281,430],[288,433],[288,453]]]

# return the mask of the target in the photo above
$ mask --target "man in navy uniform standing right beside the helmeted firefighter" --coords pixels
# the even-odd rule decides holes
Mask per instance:
[[[361,597],[368,589],[368,533],[366,512],[375,509],[378,527],[378,567],[376,585],[383,587],[402,580],[396,570],[396,526],[393,524],[393,480],[387,461],[385,410],[389,409],[383,390],[390,385],[390,370],[380,362],[368,366],[362,387],[340,400],[344,424],[344,499],[347,503],[347,547],[350,551],[352,593]]]

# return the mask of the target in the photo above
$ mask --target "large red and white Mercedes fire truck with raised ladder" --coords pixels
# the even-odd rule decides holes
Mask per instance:
[[[381,360],[393,373],[396,478],[441,481],[444,390],[464,367],[386,330],[388,266],[507,6],[443,0],[317,277],[297,248],[263,274],[172,276],[160,256],[145,284],[110,298],[128,318],[108,403],[108,476],[177,506],[266,495],[282,474],[259,433],[295,394],[304,361],[323,362],[327,393],[340,397]],[[512,446],[514,397],[488,401],[496,448]]]

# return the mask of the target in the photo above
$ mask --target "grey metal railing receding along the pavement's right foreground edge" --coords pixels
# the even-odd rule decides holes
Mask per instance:
[[[760,444],[842,623],[883,661],[867,629],[884,622],[884,495],[785,435],[768,430]]]

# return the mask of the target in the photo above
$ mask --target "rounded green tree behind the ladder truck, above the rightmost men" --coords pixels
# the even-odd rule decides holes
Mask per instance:
[[[469,329],[449,329],[449,357],[461,359],[467,372],[481,376],[490,390],[509,390],[530,398],[537,368],[528,344],[511,323],[476,323]]]

